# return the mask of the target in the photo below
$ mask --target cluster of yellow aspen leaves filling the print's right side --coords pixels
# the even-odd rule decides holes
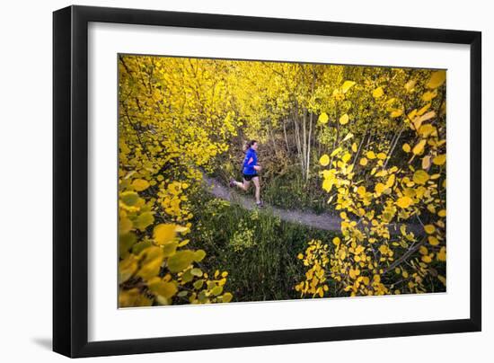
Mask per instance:
[[[367,94],[375,100],[372,111],[374,115],[382,112],[382,119],[372,122],[383,125],[382,132],[387,133],[386,137],[364,137],[362,141],[358,131],[350,128],[358,143],[351,147],[335,143],[333,148],[342,149],[333,155],[337,158],[330,162],[331,173],[329,170],[322,172],[322,189],[331,193],[329,203],[340,211],[342,218],[341,234],[332,240],[334,252],[328,273],[349,296],[427,292],[431,282],[426,278],[440,276],[436,265],[431,270],[428,265],[445,261],[445,249],[442,249],[445,244],[445,209],[442,207],[445,171],[441,168],[445,164],[445,128],[442,125],[445,109],[436,111],[438,95],[444,90],[438,90],[440,85],[434,84],[439,80],[439,74],[433,73],[431,79],[428,75],[409,78],[408,83],[402,84],[401,93],[396,93],[382,79],[379,87],[369,82],[370,94]],[[424,89],[426,83],[435,87]],[[409,94],[405,96],[405,92]],[[401,117],[405,110],[411,111],[401,119],[402,124],[398,123],[405,129],[395,128],[393,136],[391,120]],[[354,110],[351,112],[353,117]],[[357,118],[355,122],[358,122]],[[400,144],[396,137],[401,138]],[[400,160],[396,152],[400,148],[410,157]],[[354,158],[361,166],[357,172],[348,174],[345,169],[348,153],[358,153]],[[410,226],[418,224],[415,216],[423,221],[427,231],[416,232],[419,226]],[[401,223],[400,237],[393,235],[393,227],[390,227],[398,221]],[[400,268],[394,269],[403,281],[393,285],[386,267],[419,241],[427,243],[428,248],[421,245],[416,254],[404,254],[406,260],[398,261]],[[369,245],[373,246],[373,252],[367,251]],[[400,253],[395,256],[397,251]],[[315,262],[308,261],[306,255],[300,257],[309,269],[308,278],[312,278],[309,271]],[[309,281],[312,279],[299,283],[296,290],[309,291]],[[443,283],[442,280],[439,282]],[[432,283],[436,287],[436,282]],[[312,292],[313,297],[320,296],[317,290]]]

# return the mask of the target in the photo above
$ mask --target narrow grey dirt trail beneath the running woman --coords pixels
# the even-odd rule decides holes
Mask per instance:
[[[254,200],[251,198],[246,198],[240,195],[237,190],[225,187],[221,182],[215,178],[211,178],[206,174],[203,175],[203,182],[207,186],[207,190],[219,199],[225,199],[233,203],[241,205],[245,209],[252,210],[257,208]],[[252,187],[253,188],[253,187]],[[324,229],[327,231],[340,231],[341,218],[338,216],[331,216],[328,213],[315,214],[311,211],[306,210],[288,210],[281,209],[274,206],[270,206],[264,203],[264,208],[271,212],[274,216],[280,217],[282,220],[292,223],[298,223],[304,226],[310,226],[317,229]],[[415,234],[421,234],[422,228],[415,225],[409,225],[407,228],[409,231]],[[400,231],[397,226],[390,226],[391,234],[399,234]]]

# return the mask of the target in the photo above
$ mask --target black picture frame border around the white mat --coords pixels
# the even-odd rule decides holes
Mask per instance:
[[[470,318],[89,342],[88,23],[470,45]],[[69,6],[53,13],[53,350],[68,357],[481,331],[481,32]]]

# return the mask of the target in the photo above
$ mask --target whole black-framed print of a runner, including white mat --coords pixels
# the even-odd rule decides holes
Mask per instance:
[[[481,330],[480,32],[53,24],[55,351]]]

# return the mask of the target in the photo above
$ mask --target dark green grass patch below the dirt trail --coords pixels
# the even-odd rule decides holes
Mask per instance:
[[[294,290],[304,276],[296,259],[313,238],[325,243],[332,235],[281,221],[264,210],[249,211],[201,195],[194,210],[194,247],[207,252],[205,269],[227,270],[225,290],[234,301],[285,300],[299,297]]]

